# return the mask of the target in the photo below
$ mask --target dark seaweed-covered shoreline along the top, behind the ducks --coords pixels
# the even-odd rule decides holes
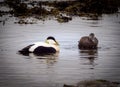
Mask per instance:
[[[117,1],[114,3],[107,0],[75,0],[75,1],[23,1],[5,0],[0,5],[7,6],[10,10],[0,10],[0,16],[11,14],[21,20],[33,17],[45,21],[48,16],[53,16],[58,22],[64,23],[72,20],[72,17],[88,17],[99,20],[102,14],[113,14],[119,12],[120,6]],[[109,3],[108,3],[109,2]],[[120,2],[119,2],[120,3]],[[18,22],[22,23],[22,22]],[[22,24],[29,24],[23,22]],[[32,24],[32,23],[30,23]]]

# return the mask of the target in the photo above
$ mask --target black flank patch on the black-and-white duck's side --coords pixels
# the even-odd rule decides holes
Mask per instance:
[[[56,50],[53,47],[44,47],[44,46],[38,46],[33,51],[36,55],[46,55],[51,53],[56,53]]]

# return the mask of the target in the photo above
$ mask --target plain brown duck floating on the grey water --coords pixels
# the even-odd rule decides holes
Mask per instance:
[[[90,33],[89,36],[84,36],[80,39],[78,47],[79,49],[97,49],[98,39],[94,33]]]

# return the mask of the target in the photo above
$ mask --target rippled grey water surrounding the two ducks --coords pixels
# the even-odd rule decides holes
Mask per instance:
[[[75,17],[68,23],[55,20],[14,24],[4,16],[0,23],[0,87],[62,87],[86,79],[120,82],[120,14],[100,20]],[[78,40],[89,33],[99,40],[97,51],[79,50]],[[55,56],[23,56],[17,51],[54,36],[60,44]]]

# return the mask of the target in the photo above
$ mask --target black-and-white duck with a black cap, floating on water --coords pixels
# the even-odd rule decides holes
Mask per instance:
[[[48,55],[56,52],[59,52],[59,44],[52,36],[48,37],[45,42],[31,44],[19,51],[19,53],[23,55],[28,55],[29,53]]]

